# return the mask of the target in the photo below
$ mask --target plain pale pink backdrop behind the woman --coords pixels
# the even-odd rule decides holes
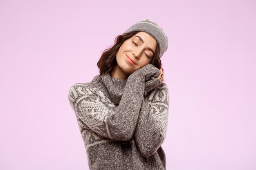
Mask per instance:
[[[0,0],[0,170],[88,170],[69,88],[117,35],[168,36],[167,170],[256,169],[256,1]]]

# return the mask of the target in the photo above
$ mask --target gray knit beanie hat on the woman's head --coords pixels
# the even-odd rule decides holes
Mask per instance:
[[[124,33],[132,31],[143,31],[151,35],[158,42],[160,46],[160,58],[164,55],[164,52],[168,48],[168,39],[162,28],[160,28],[155,22],[146,18],[143,21],[133,24]]]

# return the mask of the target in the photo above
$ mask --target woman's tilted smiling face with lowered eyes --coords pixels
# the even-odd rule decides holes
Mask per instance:
[[[127,39],[120,46],[116,54],[117,70],[125,75],[130,75],[137,69],[150,63],[157,42],[145,32],[139,32]]]

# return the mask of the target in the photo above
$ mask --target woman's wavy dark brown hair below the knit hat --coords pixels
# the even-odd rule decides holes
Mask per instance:
[[[107,72],[112,73],[112,71],[114,70],[114,68],[117,64],[115,55],[117,54],[117,51],[119,50],[120,46],[123,44],[123,42],[125,40],[129,39],[130,37],[132,37],[133,35],[135,35],[139,32],[141,32],[141,31],[132,31],[129,33],[123,33],[121,35],[118,35],[115,38],[114,45],[103,51],[99,61],[97,62],[97,66],[99,67],[100,75],[103,75]],[[158,42],[157,42],[157,46],[155,49],[155,55],[151,59],[150,64],[153,64],[153,66],[157,67],[158,69],[160,69],[162,67],[162,63],[160,60],[160,48],[159,48]]]

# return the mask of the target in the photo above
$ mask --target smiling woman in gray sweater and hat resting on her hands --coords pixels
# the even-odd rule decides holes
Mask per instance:
[[[68,93],[90,170],[166,170],[169,94],[160,58],[168,40],[147,18],[117,36],[91,82]]]

